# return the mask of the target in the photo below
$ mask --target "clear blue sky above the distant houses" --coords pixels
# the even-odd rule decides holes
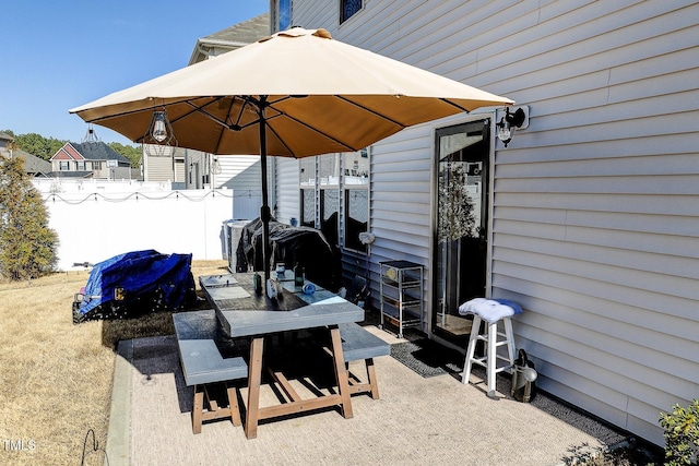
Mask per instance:
[[[2,0],[0,131],[81,142],[69,109],[183,68],[197,39],[269,0]],[[102,141],[132,144],[94,126]]]

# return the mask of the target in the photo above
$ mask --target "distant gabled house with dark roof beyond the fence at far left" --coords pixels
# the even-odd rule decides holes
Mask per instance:
[[[54,177],[131,179],[131,162],[102,141],[66,143],[50,160]]]

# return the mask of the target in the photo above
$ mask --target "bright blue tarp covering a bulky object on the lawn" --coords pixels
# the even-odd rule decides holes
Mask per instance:
[[[133,251],[95,264],[73,321],[178,309],[194,299],[191,254]]]

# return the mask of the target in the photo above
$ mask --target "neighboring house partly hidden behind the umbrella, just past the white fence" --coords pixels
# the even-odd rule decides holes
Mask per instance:
[[[189,64],[252,44],[270,34],[268,13],[199,38]],[[177,136],[177,134],[175,134]],[[212,155],[178,147],[173,155],[157,156],[144,147],[145,181],[170,181],[175,188],[227,188],[234,190],[234,216],[253,218],[260,213],[259,156]]]

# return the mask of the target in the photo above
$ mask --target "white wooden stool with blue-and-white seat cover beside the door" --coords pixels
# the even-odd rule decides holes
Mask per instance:
[[[488,396],[495,398],[496,374],[512,368],[514,365],[514,334],[512,332],[511,316],[522,312],[522,308],[516,302],[508,300],[491,300],[475,298],[464,302],[459,307],[462,315],[473,314],[473,325],[469,346],[466,347],[466,358],[463,369],[463,383],[469,383],[469,374],[473,363],[486,368],[488,382]],[[481,322],[485,321],[484,332],[481,333]],[[498,323],[502,321],[503,331],[498,330]],[[476,343],[485,342],[485,355],[475,357]],[[507,346],[506,355],[498,355],[497,349]],[[505,365],[498,365],[505,361]]]

